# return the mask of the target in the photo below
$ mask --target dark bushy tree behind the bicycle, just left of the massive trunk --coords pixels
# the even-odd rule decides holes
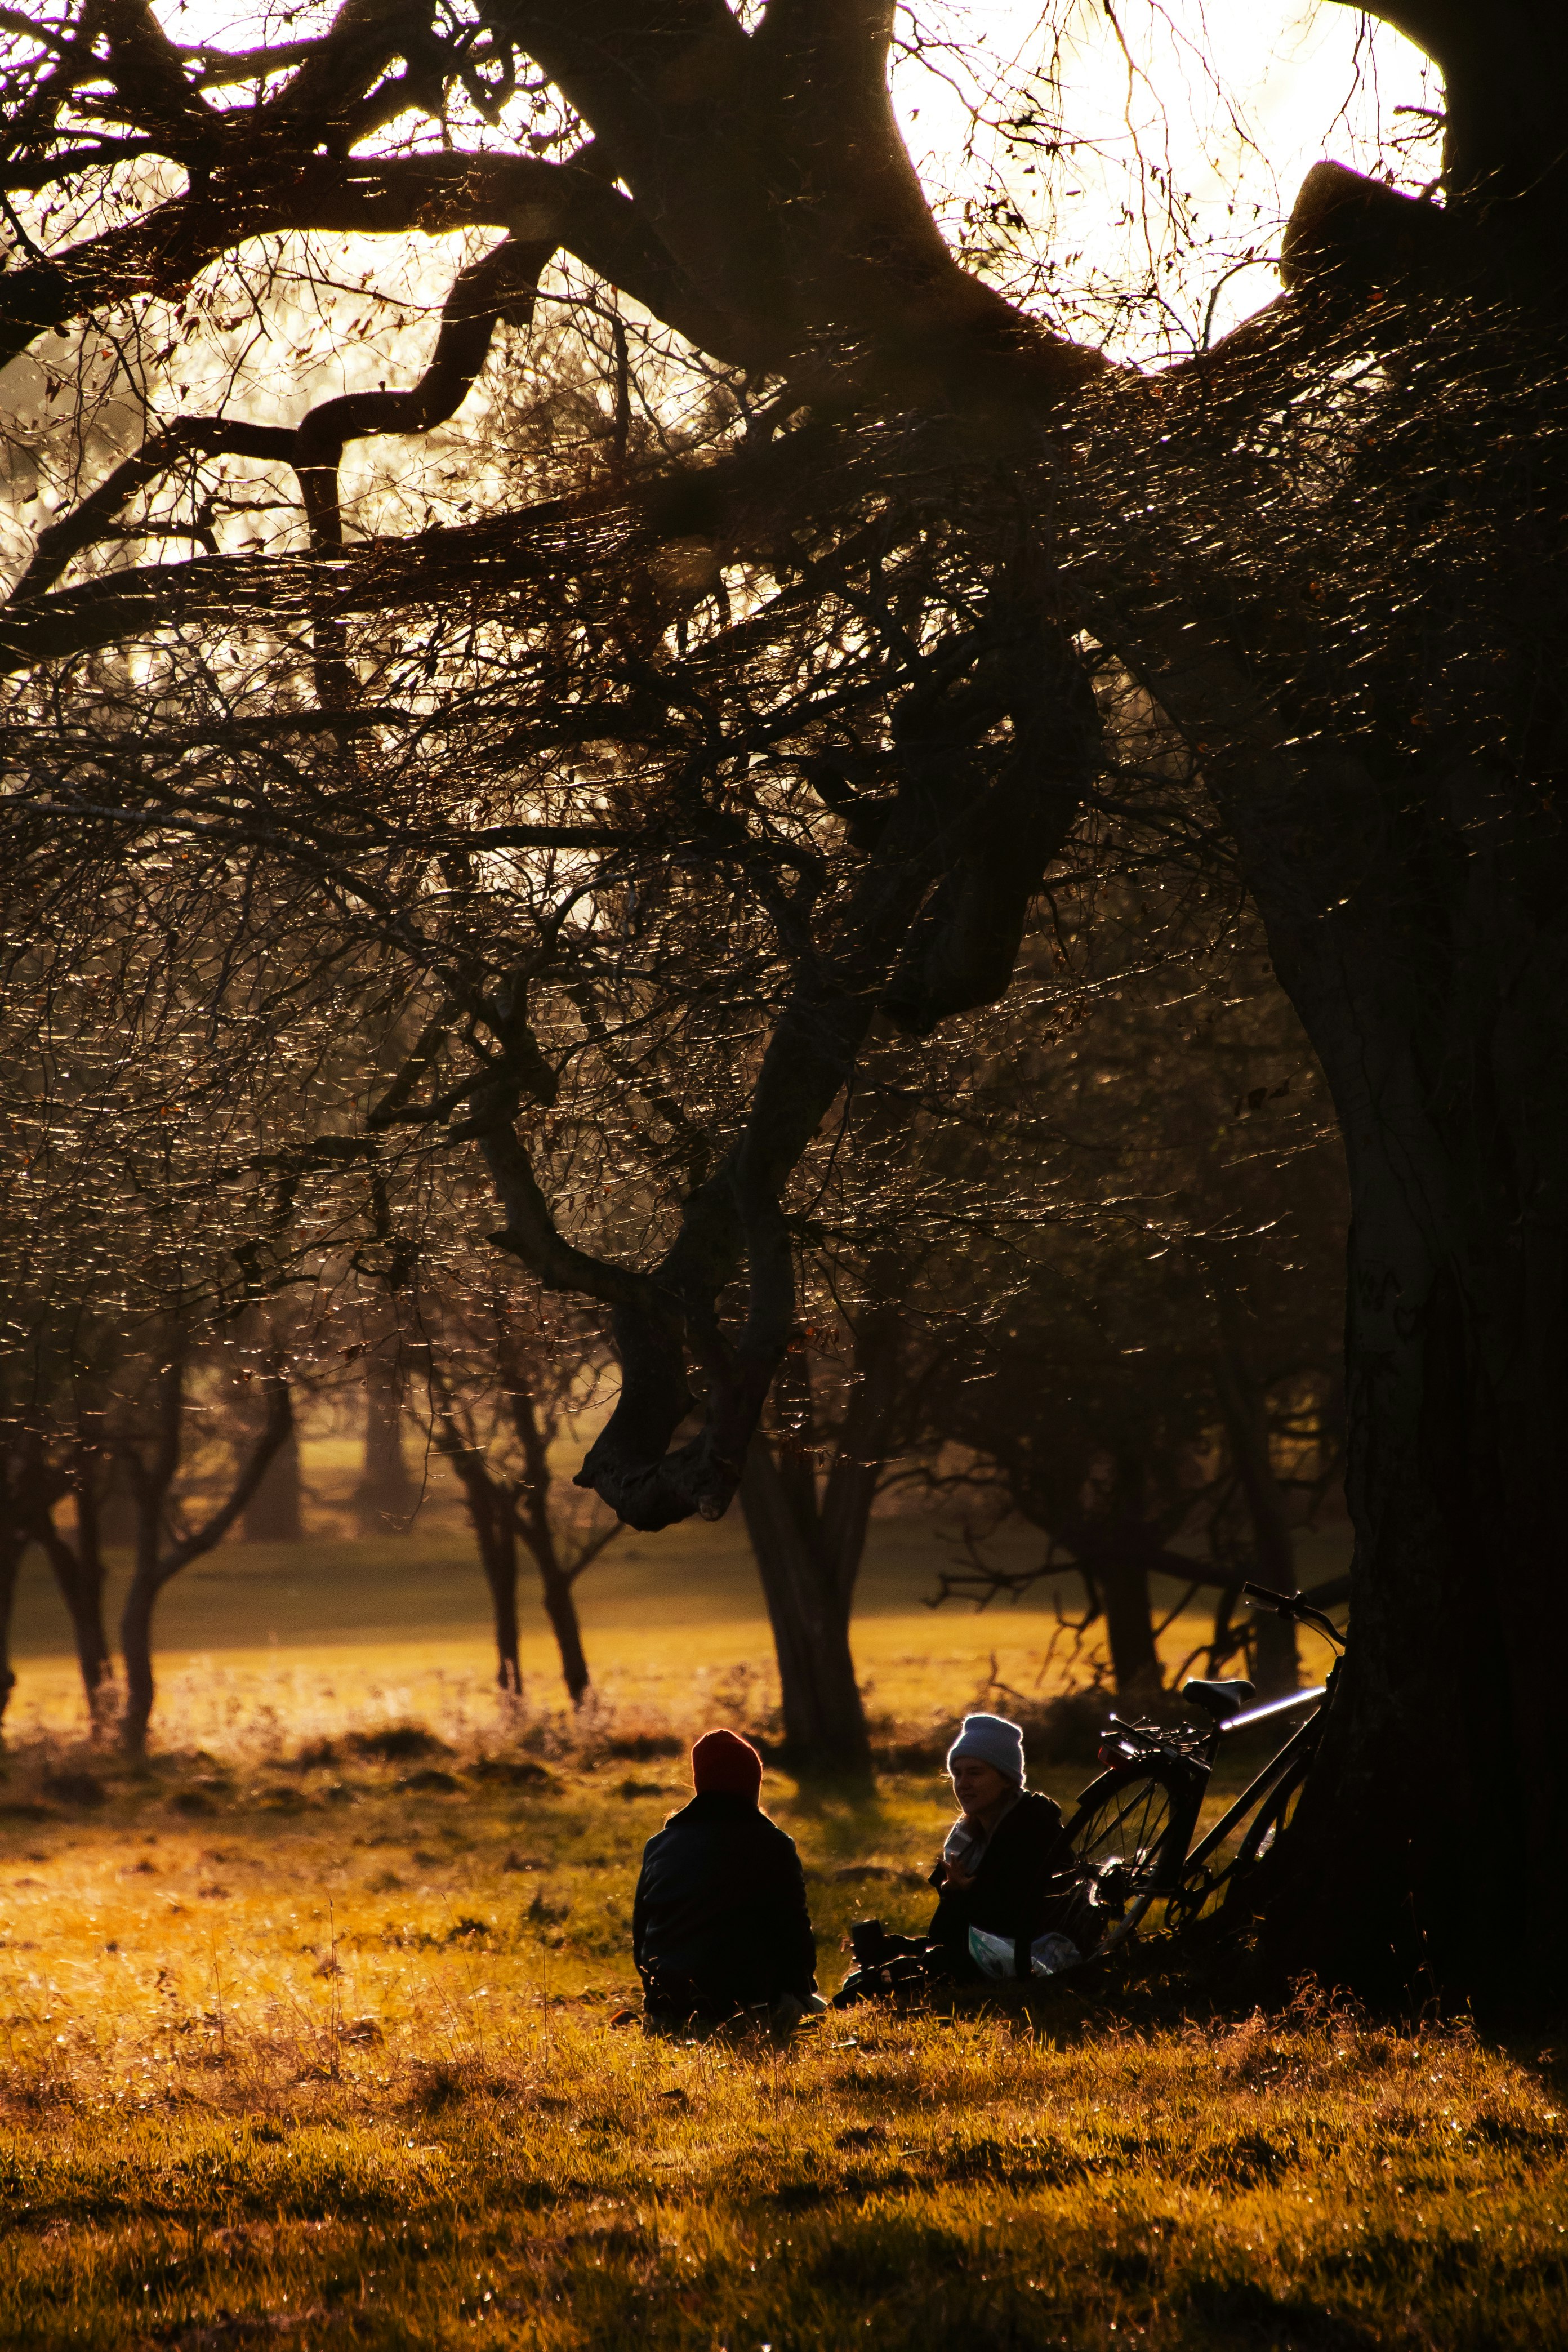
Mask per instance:
[[[954,1282],[929,1414],[969,1449],[959,1484],[990,1472],[1048,1538],[1039,1571],[992,1576],[980,1555],[947,1590],[1018,1592],[1072,1562],[1138,1698],[1164,1682],[1152,1576],[1218,1592],[1215,1661],[1239,1646],[1244,1578],[1295,1590],[1295,1526],[1335,1468],[1305,1423],[1338,1376],[1345,1197],[1321,1075],[1258,941],[1135,971],[1128,913],[1100,910],[1070,1040],[1006,1073],[1048,1138],[1051,1216],[1016,1244],[1027,1277],[992,1242]],[[987,1150],[1006,1188],[1004,1103]],[[1293,1689],[1291,1630],[1241,1623],[1260,1686]]]

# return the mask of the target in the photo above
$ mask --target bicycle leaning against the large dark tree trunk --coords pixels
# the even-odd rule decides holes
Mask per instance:
[[[1272,1592],[1267,1585],[1244,1585],[1253,1606],[1274,1609],[1326,1635],[1335,1651],[1345,1639],[1321,1609],[1302,1592]],[[1086,1957],[1103,1959],[1135,1933],[1147,1912],[1164,1900],[1166,1926],[1180,1926],[1213,1900],[1239,1872],[1251,1870],[1288,1825],[1300,1799],[1312,1757],[1324,1736],[1324,1703],[1333,1675],[1312,1691],[1291,1691],[1262,1708],[1248,1705],[1255,1686],[1244,1677],[1185,1682],[1180,1696],[1199,1708],[1206,1726],[1126,1724],[1112,1715],[1100,1762],[1107,1771],[1079,1797],[1079,1809],[1065,1825],[1079,1886],[1093,1912],[1103,1917],[1100,1936]],[[1291,1733],[1237,1802],[1194,1844],[1204,1795],[1222,1743],[1286,1715],[1312,1708],[1307,1722]],[[1241,1830],[1237,1851],[1215,1870],[1213,1858]]]

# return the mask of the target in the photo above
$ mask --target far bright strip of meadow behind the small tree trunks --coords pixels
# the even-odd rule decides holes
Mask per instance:
[[[435,1534],[381,1543],[228,1543],[197,1559],[158,1604],[165,1743],[266,1731],[273,1708],[292,1738],[390,1715],[437,1717],[465,1736],[494,1719],[489,1606],[473,1538],[444,1515]],[[421,1519],[423,1529],[423,1519]],[[1025,1564],[1039,1538],[1020,1536],[999,1557]],[[985,1613],[926,1606],[938,1571],[959,1545],[931,1519],[886,1517],[870,1529],[856,1599],[856,1661],[867,1710],[910,1733],[947,1724],[992,1672],[1025,1696],[1060,1682],[1072,1653],[1058,1635],[1056,1590]],[[127,1559],[110,1555],[108,1623],[118,1621]],[[1305,1583],[1345,1566],[1335,1531],[1300,1543]],[[559,1665],[534,1588],[522,1578],[522,1668],[529,1717],[562,1705]],[[1161,1611],[1180,1588],[1161,1588]],[[1060,1599],[1081,1606],[1077,1581]],[[670,1710],[686,1726],[712,1693],[757,1719],[776,1698],[773,1646],[738,1512],[663,1536],[623,1536],[578,1585],[588,1658],[609,1710]],[[1204,1639],[1206,1618],[1178,1618],[1164,1637],[1175,1665]],[[1056,1653],[1051,1644],[1056,1639]],[[19,1684],[5,1719],[12,1740],[71,1736],[82,1705],[71,1632],[40,1552],[16,1592]],[[994,1661],[994,1665],[992,1665]],[[1316,1651],[1305,1656],[1321,1668]],[[1077,1665],[1088,1672],[1088,1658]],[[717,1703],[717,1700],[715,1700]],[[475,1712],[477,1710],[477,1712]]]

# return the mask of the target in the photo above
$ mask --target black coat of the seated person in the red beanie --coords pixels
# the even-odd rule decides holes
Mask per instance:
[[[816,1936],[795,1839],[750,1797],[693,1797],[642,1849],[632,1957],[651,2006],[804,2002]]]

